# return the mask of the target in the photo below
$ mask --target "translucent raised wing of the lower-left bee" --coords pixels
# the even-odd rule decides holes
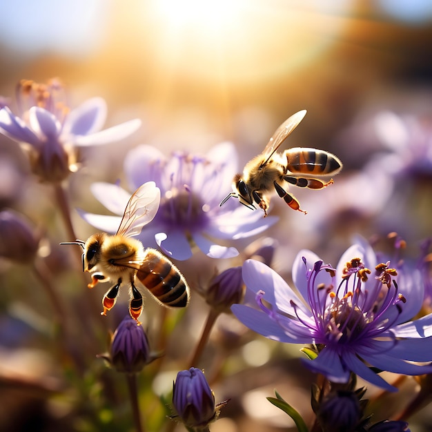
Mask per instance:
[[[154,181],[147,181],[139,186],[129,199],[121,219],[117,235],[132,237],[141,233],[144,225],[147,225],[155,217],[159,209],[161,191]]]

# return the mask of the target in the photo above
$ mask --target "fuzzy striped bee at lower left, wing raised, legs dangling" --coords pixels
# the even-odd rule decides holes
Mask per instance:
[[[140,186],[129,199],[115,235],[97,233],[86,242],[75,240],[62,244],[78,244],[83,248],[83,271],[92,273],[88,288],[99,282],[113,282],[104,295],[102,305],[106,315],[114,307],[122,284],[128,284],[130,293],[129,313],[140,324],[138,318],[143,307],[143,297],[137,279],[156,300],[171,307],[185,307],[189,302],[189,287],[179,269],[168,258],[153,248],[144,249],[138,239],[143,226],[155,217],[159,208],[160,190],[155,182]]]

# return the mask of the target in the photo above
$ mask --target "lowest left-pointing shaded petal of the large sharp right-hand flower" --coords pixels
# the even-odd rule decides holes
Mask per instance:
[[[237,320],[242,322],[246,327],[251,328],[251,330],[268,339],[276,340],[277,342],[299,343],[298,340],[287,336],[283,328],[271,320],[264,312],[257,311],[257,309],[244,306],[243,304],[233,304],[231,311],[237,317]]]

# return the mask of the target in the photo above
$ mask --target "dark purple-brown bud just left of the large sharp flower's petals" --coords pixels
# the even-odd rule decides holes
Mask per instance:
[[[242,267],[232,267],[213,277],[206,290],[206,302],[218,312],[229,312],[229,308],[242,301],[244,296]]]

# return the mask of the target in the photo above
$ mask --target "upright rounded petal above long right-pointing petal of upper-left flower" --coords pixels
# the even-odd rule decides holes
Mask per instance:
[[[64,132],[72,135],[89,135],[101,130],[106,121],[106,101],[93,97],[72,110],[66,118]]]

